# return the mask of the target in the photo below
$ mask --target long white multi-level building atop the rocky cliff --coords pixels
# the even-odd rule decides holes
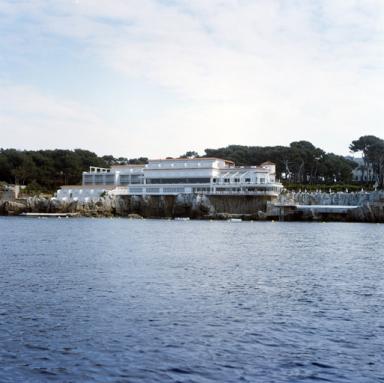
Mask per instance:
[[[83,173],[81,186],[62,186],[57,198],[96,200],[114,195],[269,195],[277,196],[282,184],[276,181],[272,162],[260,166],[235,166],[220,158],[150,160],[146,165],[91,167]]]

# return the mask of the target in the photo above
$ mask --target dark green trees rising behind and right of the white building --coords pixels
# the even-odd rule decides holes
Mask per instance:
[[[369,181],[384,188],[384,140],[376,136],[362,136],[352,141],[349,149],[362,154],[364,164],[334,153],[326,153],[308,141],[295,141],[289,146],[229,145],[219,149],[205,149],[201,157],[218,157],[234,161],[237,165],[259,165],[265,161],[276,164],[277,177],[286,184],[321,185],[350,184],[352,171],[364,173],[372,169]],[[182,157],[199,157],[190,151]]]

